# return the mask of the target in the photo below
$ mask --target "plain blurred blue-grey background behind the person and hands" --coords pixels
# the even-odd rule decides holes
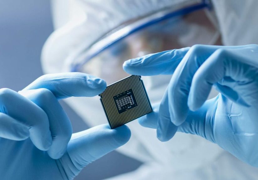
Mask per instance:
[[[50,0],[0,1],[0,88],[19,91],[41,76],[41,48],[53,32]],[[87,129],[80,117],[61,102],[73,131]],[[76,180],[98,180],[138,168],[140,162],[117,152],[88,165]]]

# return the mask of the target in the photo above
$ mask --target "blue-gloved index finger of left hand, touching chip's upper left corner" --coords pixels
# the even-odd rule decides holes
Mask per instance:
[[[57,99],[69,97],[93,97],[106,89],[106,82],[85,73],[46,74],[29,84],[23,90],[45,88]]]

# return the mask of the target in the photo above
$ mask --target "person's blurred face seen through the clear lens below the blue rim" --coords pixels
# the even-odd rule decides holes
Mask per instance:
[[[219,45],[219,38],[207,14],[199,10],[134,32],[85,63],[80,71],[110,84],[129,76],[123,70],[123,63],[128,59],[194,44]]]

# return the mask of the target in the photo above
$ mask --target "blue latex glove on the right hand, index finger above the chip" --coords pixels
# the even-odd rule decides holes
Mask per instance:
[[[173,74],[160,106],[139,120],[161,141],[197,134],[258,167],[258,45],[195,45],[128,60],[124,70]],[[212,85],[220,94],[206,101]]]

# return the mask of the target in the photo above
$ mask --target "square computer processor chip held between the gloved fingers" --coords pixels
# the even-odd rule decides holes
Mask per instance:
[[[141,76],[132,75],[99,94],[111,129],[152,112]]]

